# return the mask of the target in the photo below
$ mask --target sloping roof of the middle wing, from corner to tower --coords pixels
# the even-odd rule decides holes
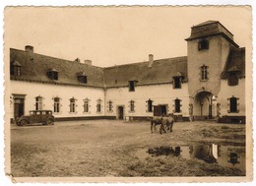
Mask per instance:
[[[107,88],[124,87],[129,81],[137,81],[137,86],[168,84],[178,72],[187,80],[186,56],[155,60],[152,67],[149,62],[107,67],[104,80]]]

